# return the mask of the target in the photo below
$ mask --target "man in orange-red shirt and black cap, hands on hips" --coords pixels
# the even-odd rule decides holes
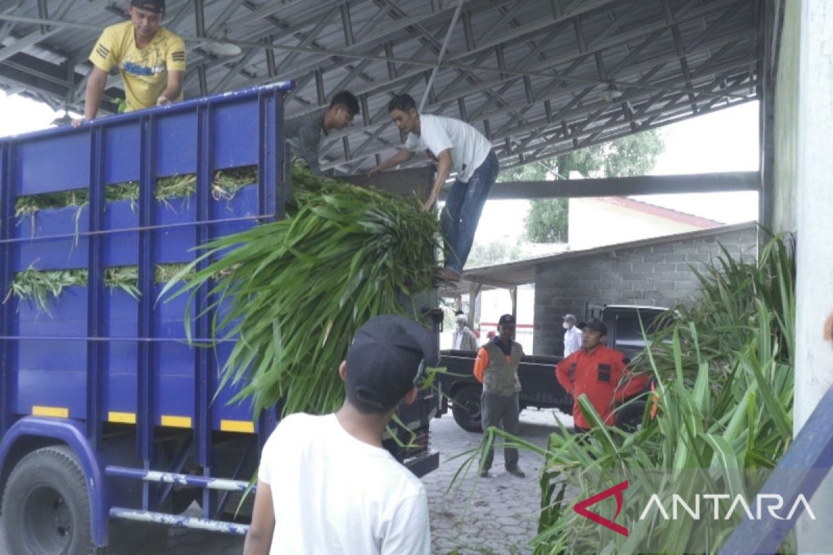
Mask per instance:
[[[586,394],[596,412],[608,426],[616,424],[615,406],[645,389],[648,377],[630,378],[627,365],[631,360],[621,351],[604,344],[607,326],[598,318],[581,322],[581,349],[561,360],[556,366],[556,379],[573,398],[573,423],[576,432],[591,428],[579,409],[578,398]],[[623,382],[622,378],[629,381]]]

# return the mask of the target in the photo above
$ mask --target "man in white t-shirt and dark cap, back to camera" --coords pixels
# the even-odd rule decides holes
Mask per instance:
[[[382,448],[382,434],[436,359],[431,332],[412,320],[362,325],[338,369],[342,408],[290,414],[269,436],[244,555],[431,553],[425,488]]]

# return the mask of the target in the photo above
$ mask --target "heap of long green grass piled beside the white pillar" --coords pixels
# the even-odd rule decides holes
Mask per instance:
[[[625,539],[565,510],[557,496],[569,486],[586,498],[631,476],[628,504],[645,507],[656,484],[633,477],[651,473],[668,478],[666,493],[684,498],[693,491],[754,496],[756,469],[774,468],[792,438],[794,253],[788,236],[771,240],[757,262],[725,253],[701,275],[702,300],[669,311],[664,330],[646,338],[651,349],[642,362],[659,379],[656,419],[646,414],[633,434],[596,425],[587,443],[566,430],[552,434],[536,553],[719,550],[726,527],[716,536],[706,519],[625,515],[617,521],[630,528]],[[586,398],[580,403],[597,420]]]

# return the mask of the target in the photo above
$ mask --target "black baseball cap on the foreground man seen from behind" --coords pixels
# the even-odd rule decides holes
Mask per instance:
[[[438,359],[431,331],[402,316],[376,316],[347,349],[347,399],[362,412],[385,413]]]

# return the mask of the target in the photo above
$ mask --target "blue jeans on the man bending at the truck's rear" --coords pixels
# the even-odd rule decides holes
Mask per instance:
[[[446,258],[446,267],[457,274],[462,274],[463,266],[466,265],[480,213],[500,169],[495,152],[490,151],[486,160],[471,174],[468,183],[458,179],[448,193],[440,225],[442,235],[451,249]]]

